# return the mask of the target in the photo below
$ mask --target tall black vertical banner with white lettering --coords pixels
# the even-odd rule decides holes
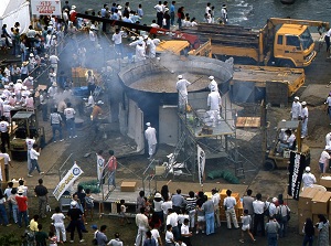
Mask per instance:
[[[288,194],[297,201],[299,200],[300,186],[305,168],[306,157],[300,153],[291,152],[290,163],[288,168]]]

